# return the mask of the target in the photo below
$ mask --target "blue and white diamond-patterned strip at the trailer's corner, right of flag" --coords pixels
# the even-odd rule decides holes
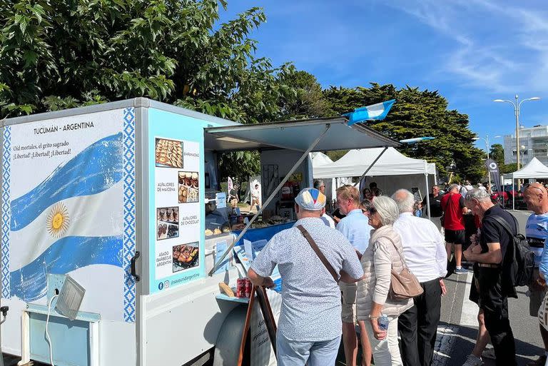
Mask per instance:
[[[123,110],[123,320],[135,322],[135,280],[131,258],[135,254],[135,108]]]

